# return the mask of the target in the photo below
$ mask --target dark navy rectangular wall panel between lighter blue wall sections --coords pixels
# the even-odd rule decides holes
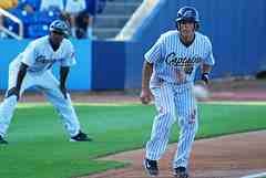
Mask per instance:
[[[92,90],[123,90],[125,78],[125,43],[92,43]]]

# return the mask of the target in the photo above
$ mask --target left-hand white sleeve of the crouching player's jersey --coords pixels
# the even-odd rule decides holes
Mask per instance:
[[[37,56],[37,52],[35,52],[35,44],[34,43],[30,43],[25,50],[23,51],[23,55],[22,55],[22,60],[21,62],[27,64],[28,66],[32,66],[35,63],[35,56]]]

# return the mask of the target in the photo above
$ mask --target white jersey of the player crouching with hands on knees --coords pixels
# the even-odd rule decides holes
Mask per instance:
[[[37,74],[50,70],[54,63],[71,66],[75,64],[74,48],[68,39],[63,39],[60,48],[54,52],[49,42],[49,35],[45,35],[32,41],[12,63],[20,62],[29,65],[29,72]]]

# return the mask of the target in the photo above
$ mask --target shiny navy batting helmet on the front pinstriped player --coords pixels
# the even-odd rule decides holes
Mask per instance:
[[[193,7],[183,7],[177,11],[177,18],[175,19],[176,25],[178,27],[178,23],[181,21],[190,21],[194,22],[196,24],[196,29],[198,29],[200,23],[200,15],[195,8]]]

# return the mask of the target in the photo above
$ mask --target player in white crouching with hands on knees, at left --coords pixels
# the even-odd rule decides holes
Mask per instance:
[[[8,144],[4,135],[22,93],[32,86],[41,91],[60,114],[72,142],[91,140],[81,132],[80,122],[66,92],[65,81],[70,66],[75,64],[74,49],[65,38],[68,24],[55,20],[50,34],[32,41],[9,65],[9,87],[0,105],[0,144]],[[60,81],[51,67],[60,65]]]

